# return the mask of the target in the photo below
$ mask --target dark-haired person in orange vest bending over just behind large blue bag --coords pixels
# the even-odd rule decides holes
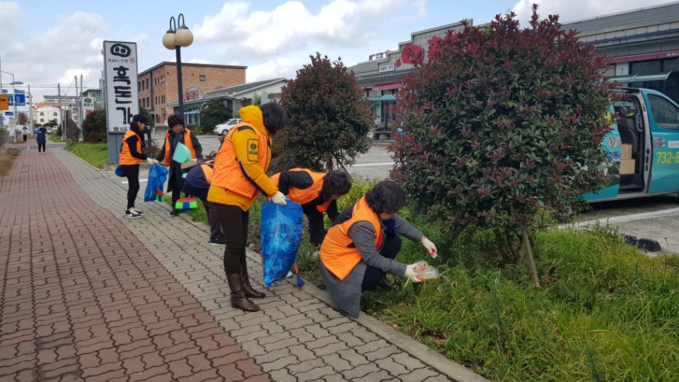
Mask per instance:
[[[292,168],[274,174],[271,180],[290,200],[301,204],[309,220],[311,243],[320,247],[325,238],[323,212],[331,222],[340,214],[337,211],[337,198],[351,190],[352,179],[349,174],[342,170],[315,173],[308,168]]]

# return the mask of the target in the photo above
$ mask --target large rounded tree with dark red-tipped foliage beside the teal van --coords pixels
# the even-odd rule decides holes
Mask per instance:
[[[576,209],[603,187],[608,62],[558,16],[540,21],[536,5],[530,28],[514,13],[464,25],[414,57],[393,110],[406,134],[392,176],[453,233],[492,228],[514,260],[532,263],[538,210]]]

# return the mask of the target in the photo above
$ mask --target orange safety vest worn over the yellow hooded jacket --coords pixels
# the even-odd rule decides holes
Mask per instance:
[[[255,196],[257,187],[245,176],[240,168],[240,161],[238,161],[236,149],[233,149],[233,141],[231,141],[231,136],[243,126],[250,127],[257,134],[257,139],[259,139],[260,152],[258,159],[260,167],[265,171],[269,168],[269,162],[271,161],[269,137],[267,137],[267,134],[260,132],[257,127],[250,126],[247,122],[240,122],[231,128],[226,137],[224,137],[224,143],[221,145],[221,149],[214,161],[212,185],[251,198]],[[220,158],[221,156],[226,156],[226,158]]]

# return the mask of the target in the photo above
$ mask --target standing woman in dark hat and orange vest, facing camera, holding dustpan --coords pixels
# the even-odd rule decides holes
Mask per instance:
[[[185,144],[189,151],[191,151],[191,158],[193,159],[203,158],[203,148],[200,146],[196,134],[190,129],[184,128],[184,119],[180,115],[170,115],[168,117],[168,127],[170,129],[165,134],[165,144],[163,144],[163,148],[160,154],[158,154],[158,161],[165,161],[165,166],[170,168],[167,190],[167,192],[172,192],[172,210],[170,215],[177,216],[184,211],[183,209],[175,208],[175,203],[179,200],[184,188],[184,178],[182,178],[181,163],[172,160],[172,157],[175,155],[175,147],[177,147],[178,143]]]

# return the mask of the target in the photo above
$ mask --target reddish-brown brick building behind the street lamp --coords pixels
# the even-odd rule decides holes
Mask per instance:
[[[192,64],[182,62],[182,87],[184,100],[199,98],[204,93],[245,83],[245,69],[248,66]],[[139,86],[139,107],[150,110],[154,125],[167,125],[167,118],[177,104],[177,64],[161,62],[146,69],[137,76]],[[184,108],[187,125],[192,124],[199,110]]]

